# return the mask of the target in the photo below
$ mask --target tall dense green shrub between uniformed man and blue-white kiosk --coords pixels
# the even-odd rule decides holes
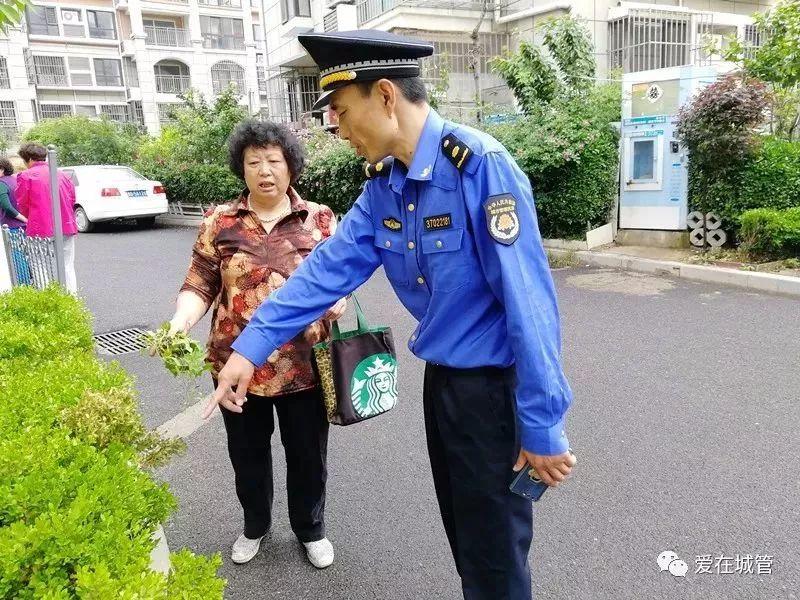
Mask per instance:
[[[573,17],[546,21],[543,47],[523,42],[495,60],[524,117],[488,131],[528,175],[545,237],[582,237],[607,221],[617,192],[620,86],[596,85],[589,32]]]

